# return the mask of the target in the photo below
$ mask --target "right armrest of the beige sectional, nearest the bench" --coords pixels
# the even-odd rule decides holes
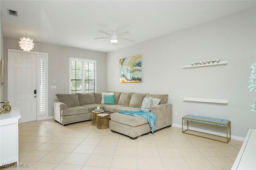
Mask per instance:
[[[151,113],[156,114],[155,130],[172,125],[172,104],[161,104],[154,106]]]

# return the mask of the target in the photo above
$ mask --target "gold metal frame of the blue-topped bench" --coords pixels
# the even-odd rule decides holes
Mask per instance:
[[[214,135],[214,134],[211,134],[211,133],[205,133],[205,132],[200,132],[200,131],[194,131],[194,130],[190,130],[188,129],[188,120],[187,120],[187,129],[185,131],[183,131],[183,119],[189,119],[191,122],[193,120],[194,121],[198,121],[200,123],[201,122],[207,122],[207,123],[214,123],[215,126],[217,126],[217,124],[219,125],[224,125],[224,127],[226,127],[226,137],[223,137],[223,136],[220,136],[220,135]],[[228,128],[229,128],[229,137],[228,137]],[[195,135],[195,134],[192,134],[192,133],[187,133],[186,131],[194,131],[194,132],[200,132],[200,133],[204,133],[204,134],[208,134],[208,135],[214,135],[214,136],[217,136],[217,137],[221,137],[221,138],[224,138],[226,141],[221,141],[221,140],[218,140],[218,139],[213,139],[213,138],[210,138],[210,137],[204,137],[204,136],[200,136],[200,135]],[[214,140],[214,141],[218,141],[218,142],[222,142],[222,143],[228,143],[231,139],[231,121],[226,124],[226,123],[217,123],[217,122],[213,122],[213,121],[206,121],[206,120],[199,120],[199,119],[192,119],[192,118],[187,118],[187,117],[182,117],[182,133],[186,133],[188,135],[194,135],[194,136],[197,136],[197,137],[202,137],[202,138],[205,138],[205,139],[211,139],[211,140]]]

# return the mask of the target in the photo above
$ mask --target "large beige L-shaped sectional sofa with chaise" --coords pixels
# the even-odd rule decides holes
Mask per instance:
[[[56,94],[59,102],[54,103],[54,119],[62,125],[92,119],[92,111],[100,106],[109,114],[110,129],[136,139],[151,131],[148,121],[143,117],[134,117],[117,113],[120,110],[139,110],[145,97],[158,98],[160,103],[151,109],[156,114],[155,131],[172,125],[172,105],[167,104],[168,95],[113,92],[115,104],[101,104],[101,93]]]

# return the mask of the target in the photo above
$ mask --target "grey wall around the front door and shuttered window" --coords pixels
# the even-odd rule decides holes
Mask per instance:
[[[34,37],[30,37],[34,38]],[[36,38],[36,37],[35,37]],[[4,37],[4,101],[7,101],[7,49],[18,49],[19,39]],[[48,116],[53,116],[53,104],[57,101],[55,94],[69,93],[69,57],[92,59],[97,61],[97,92],[106,91],[106,53],[34,42],[33,51],[48,53]],[[51,89],[53,81],[57,88]]]

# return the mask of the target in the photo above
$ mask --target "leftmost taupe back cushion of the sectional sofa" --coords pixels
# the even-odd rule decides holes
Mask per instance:
[[[67,107],[80,106],[77,94],[56,94],[59,102],[67,105]]]

